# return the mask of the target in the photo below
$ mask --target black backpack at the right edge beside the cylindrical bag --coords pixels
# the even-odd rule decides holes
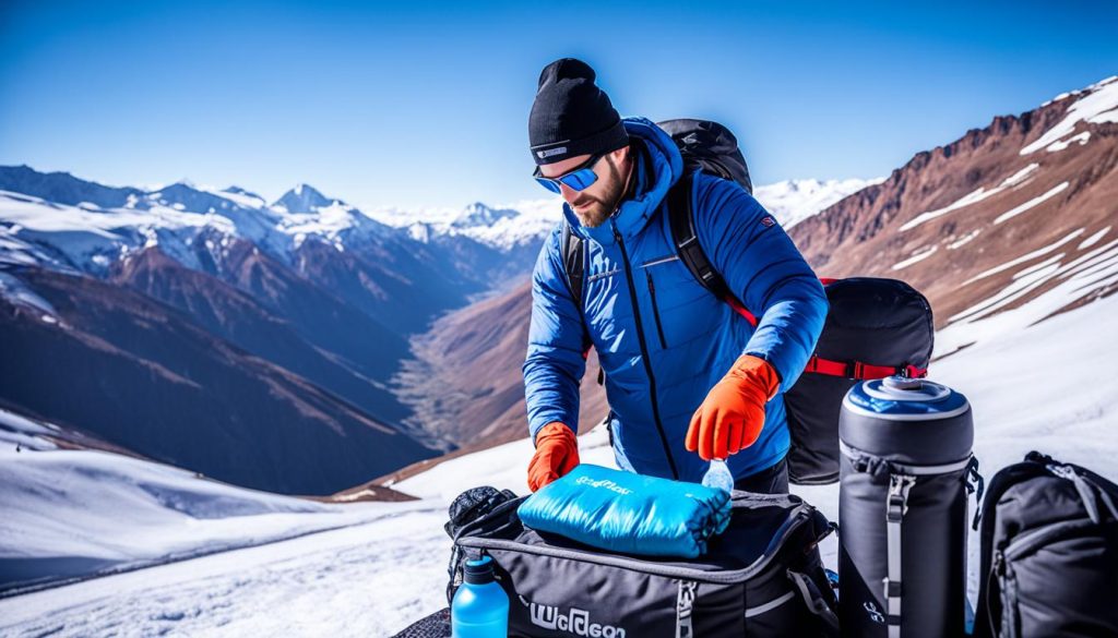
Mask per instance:
[[[1118,485],[1033,451],[982,510],[978,638],[1118,636]]]

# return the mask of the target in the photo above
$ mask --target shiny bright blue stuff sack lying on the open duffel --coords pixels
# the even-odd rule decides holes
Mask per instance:
[[[582,464],[524,499],[517,514],[538,532],[601,550],[693,559],[730,523],[730,495]]]

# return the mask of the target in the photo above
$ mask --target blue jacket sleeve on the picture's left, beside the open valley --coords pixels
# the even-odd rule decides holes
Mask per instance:
[[[524,402],[531,439],[561,421],[578,434],[578,387],[586,372],[589,337],[568,287],[559,229],[543,242],[532,272],[532,322],[524,359]]]

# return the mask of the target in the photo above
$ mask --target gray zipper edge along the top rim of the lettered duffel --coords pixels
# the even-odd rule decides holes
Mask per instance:
[[[799,529],[800,525],[809,520],[808,511],[805,506],[800,506],[795,511],[795,513],[785,521],[781,525],[780,531],[777,533],[769,546],[766,547],[766,553],[761,554],[754,563],[747,568],[740,570],[729,570],[722,572],[709,572],[704,570],[699,570],[694,568],[678,568],[660,565],[648,561],[642,561],[637,559],[628,559],[620,556],[613,556],[606,554],[596,554],[593,552],[587,552],[582,550],[569,550],[559,547],[548,547],[544,545],[530,545],[527,543],[518,543],[517,541],[504,541],[500,539],[481,539],[476,536],[467,536],[458,539],[458,544],[466,547],[477,547],[483,550],[509,550],[515,552],[524,552],[528,554],[537,554],[541,556],[551,556],[557,559],[568,559],[572,561],[580,561],[584,563],[618,566],[632,569],[635,571],[644,572],[653,575],[662,575],[674,579],[683,579],[695,582],[709,582],[717,584],[733,584],[739,582],[745,582],[759,573],[769,562],[777,552],[769,553],[771,547],[779,547],[784,542]]]

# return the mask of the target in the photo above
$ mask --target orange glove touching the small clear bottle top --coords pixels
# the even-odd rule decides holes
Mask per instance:
[[[779,387],[780,379],[768,361],[742,354],[691,417],[684,446],[710,460],[754,445],[765,426],[765,403]]]

